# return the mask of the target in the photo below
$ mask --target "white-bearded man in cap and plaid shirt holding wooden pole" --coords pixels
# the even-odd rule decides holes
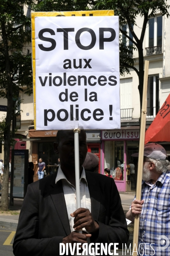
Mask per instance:
[[[130,221],[140,215],[139,255],[170,255],[170,163],[157,143],[144,146],[142,179],[141,201],[135,198],[126,214]]]

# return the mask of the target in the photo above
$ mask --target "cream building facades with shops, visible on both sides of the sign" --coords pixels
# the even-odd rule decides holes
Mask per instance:
[[[170,4],[170,0],[167,1]],[[27,14],[28,9],[25,10]],[[142,30],[143,18],[136,17],[136,26],[133,29],[138,37]],[[149,62],[148,88],[147,88],[147,120],[146,128],[153,122],[156,113],[170,93],[170,18],[161,16],[157,12],[155,17],[150,17],[144,36],[143,51],[144,60]],[[124,28],[129,33],[126,25]],[[130,35],[131,36],[131,35]],[[127,41],[127,44],[129,42]],[[31,45],[25,47],[25,52],[31,52]],[[139,70],[138,52],[133,52],[136,58],[135,67]],[[121,129],[114,131],[86,131],[88,151],[97,154],[100,158],[99,172],[104,174],[104,169],[111,169],[119,191],[136,190],[137,162],[131,154],[139,150],[139,117],[140,99],[138,90],[138,76],[134,70],[130,74],[120,77],[120,109]],[[57,131],[34,131],[34,109],[33,96],[20,93],[23,100],[20,108],[21,129],[17,131],[16,137],[20,137],[29,149],[29,161],[36,163],[40,157],[46,161],[47,172],[51,169],[58,157],[52,150]],[[114,101],[114,96],[113,96]],[[0,99],[0,105],[7,105],[6,99]],[[0,117],[6,114],[0,111]],[[162,144],[167,153],[170,153],[170,145]],[[15,147],[18,147],[17,144]],[[2,148],[3,149],[3,148]],[[3,159],[3,150],[0,153]],[[119,167],[122,175],[116,179],[116,168]]]

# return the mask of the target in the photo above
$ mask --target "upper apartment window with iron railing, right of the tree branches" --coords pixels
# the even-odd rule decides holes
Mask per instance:
[[[148,21],[149,42],[146,55],[162,53],[162,16],[154,17]]]

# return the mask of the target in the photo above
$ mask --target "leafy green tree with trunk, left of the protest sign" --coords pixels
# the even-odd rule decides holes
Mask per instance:
[[[0,125],[0,140],[4,141],[4,175],[0,207],[8,210],[9,155],[11,146],[11,121],[15,114],[16,100],[22,87],[32,93],[31,55],[23,47],[31,42],[31,20],[23,12],[24,5],[33,1],[0,1],[0,98],[7,99],[6,117]],[[20,102],[18,103],[20,104]]]

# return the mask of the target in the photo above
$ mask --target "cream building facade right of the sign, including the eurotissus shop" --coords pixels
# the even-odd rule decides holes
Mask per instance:
[[[167,1],[170,4],[170,0]],[[136,17],[136,26],[133,30],[138,36],[141,35],[143,18]],[[148,87],[147,87],[147,119],[146,129],[153,122],[156,114],[170,93],[170,18],[161,16],[157,12],[155,17],[150,17],[144,36],[143,52],[144,60],[149,61]],[[124,30],[130,35],[128,25]],[[126,41],[127,45],[129,41]],[[138,52],[133,51],[136,58],[135,67],[139,70]],[[102,131],[102,172],[110,168],[115,177],[116,167],[122,172],[120,180],[116,180],[119,191],[136,190],[137,159],[131,154],[139,151],[139,117],[140,99],[138,90],[139,79],[134,70],[130,74],[120,77],[120,109],[121,130]],[[129,132],[129,133],[128,133]],[[132,134],[133,133],[133,134]],[[125,135],[126,134],[126,135]],[[127,134],[129,137],[127,138]],[[161,143],[170,153],[170,143]],[[119,175],[120,176],[120,175]]]

